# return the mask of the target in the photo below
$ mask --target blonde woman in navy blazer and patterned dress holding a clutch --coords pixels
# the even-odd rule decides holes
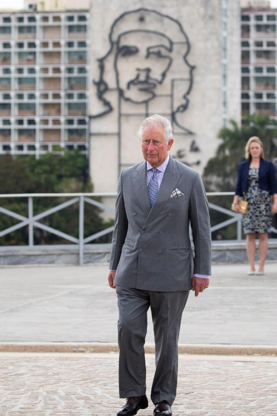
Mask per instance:
[[[263,275],[267,256],[267,238],[272,214],[277,213],[277,184],[273,163],[264,159],[259,137],[250,137],[245,146],[245,161],[238,166],[238,179],[233,204],[240,212],[240,196],[248,201],[248,212],[243,215],[243,232],[246,234],[246,253],[250,265],[248,275]],[[255,272],[255,236],[259,234],[259,268]]]

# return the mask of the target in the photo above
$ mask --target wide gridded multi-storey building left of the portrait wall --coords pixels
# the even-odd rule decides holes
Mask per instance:
[[[88,153],[89,11],[28,10],[0,11],[0,154]]]

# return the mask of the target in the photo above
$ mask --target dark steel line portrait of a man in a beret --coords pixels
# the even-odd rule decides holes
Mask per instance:
[[[145,24],[147,24],[147,27],[145,27]],[[151,26],[151,29],[149,29],[149,25]],[[158,26],[158,29],[155,28],[155,26]],[[125,30],[121,30],[121,28],[124,27]],[[161,31],[160,28],[163,27],[163,30]],[[170,30],[174,32],[172,33],[172,37],[175,37],[174,40],[172,40],[172,37],[170,37]],[[123,54],[123,56],[130,56],[135,55],[138,50],[134,47],[134,45],[124,45],[125,50],[122,50],[120,48],[120,38],[123,35],[132,34],[133,32],[141,32],[142,34],[148,33],[149,35],[162,35],[165,40],[167,40],[167,45],[154,45],[156,47],[156,51],[153,52],[153,45],[150,48],[147,48],[147,55],[145,58],[150,57],[150,54],[154,53],[156,54],[156,57],[158,59],[168,59],[168,64],[165,67],[164,71],[161,74],[160,79],[154,79],[151,77],[151,68],[145,68],[145,74],[144,79],[141,81],[139,74],[137,74],[137,77],[130,80],[130,82],[127,83],[127,89],[130,89],[131,87],[136,86],[137,90],[140,92],[147,93],[148,97],[145,98],[145,100],[139,100],[136,101],[133,98],[130,98],[126,95],[128,93],[127,89],[124,91],[122,86],[120,86],[120,74],[118,72],[117,67],[117,61],[118,61],[118,55]],[[186,50],[184,51],[184,54],[179,57],[181,58],[181,61],[187,65],[189,69],[189,79],[188,78],[172,78],[171,79],[171,117],[172,117],[172,124],[178,126],[185,135],[193,135],[194,133],[187,129],[186,127],[182,126],[180,122],[176,119],[176,116],[180,113],[184,113],[184,111],[187,109],[189,105],[189,98],[188,95],[191,91],[192,85],[193,85],[193,70],[194,66],[190,65],[187,60],[187,55],[190,51],[190,44],[189,39],[186,35],[186,33],[183,30],[183,27],[178,22],[178,20],[173,19],[172,17],[168,15],[164,15],[160,12],[157,12],[156,10],[150,10],[146,8],[140,8],[137,10],[132,10],[129,12],[125,12],[122,15],[120,15],[114,22],[111,27],[110,33],[109,33],[109,41],[110,41],[110,49],[108,52],[103,56],[102,58],[98,59],[98,66],[99,66],[99,78],[98,80],[93,80],[93,84],[96,86],[96,94],[98,97],[98,100],[101,101],[101,104],[105,107],[105,109],[98,114],[92,114],[92,118],[100,117],[105,114],[110,113],[113,111],[113,106],[108,101],[108,99],[105,98],[105,93],[108,92],[110,89],[114,89],[113,87],[110,88],[108,83],[105,81],[105,64],[107,60],[113,57],[113,69],[115,71],[115,78],[116,78],[116,88],[118,89],[118,93],[120,97],[122,97],[126,101],[130,101],[134,104],[148,104],[148,102],[156,97],[155,94],[155,87],[158,84],[162,84],[164,79],[167,76],[167,73],[172,65],[172,52],[174,49],[174,44],[183,44],[186,47]],[[165,42],[164,42],[165,43]],[[157,50],[159,48],[159,50]],[[155,48],[154,48],[155,49]],[[161,52],[161,49],[163,53]],[[152,51],[151,51],[152,50]],[[164,51],[167,53],[164,54]],[[124,55],[125,54],[125,55]],[[152,56],[152,55],[151,55]],[[181,69],[180,69],[181,72]],[[188,87],[186,88],[186,91],[182,95],[182,99],[184,100],[181,104],[179,104],[176,108],[173,108],[173,82],[175,80],[178,81],[189,81]],[[120,116],[120,114],[119,114]],[[194,142],[195,143],[195,142]],[[190,151],[199,151],[199,148],[196,146],[191,148]],[[197,163],[198,164],[198,163]]]

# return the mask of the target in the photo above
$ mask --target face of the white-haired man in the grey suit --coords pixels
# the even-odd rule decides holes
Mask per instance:
[[[167,158],[167,151],[171,149],[173,139],[168,144],[164,139],[162,127],[146,126],[143,129],[141,147],[142,154],[153,168],[160,166]]]

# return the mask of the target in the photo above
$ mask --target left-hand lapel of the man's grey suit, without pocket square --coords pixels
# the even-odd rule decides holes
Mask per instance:
[[[147,217],[150,212],[150,202],[146,185],[146,161],[140,163],[133,171],[133,186],[137,201]]]

